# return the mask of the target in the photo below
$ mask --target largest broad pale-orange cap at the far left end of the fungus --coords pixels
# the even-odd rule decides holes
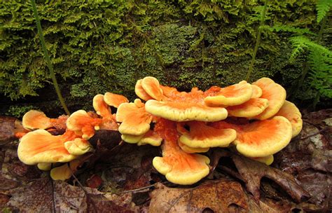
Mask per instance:
[[[64,142],[75,139],[72,131],[64,135],[51,135],[46,130],[36,130],[23,136],[18,144],[18,158],[27,164],[68,162],[76,158],[64,148]]]

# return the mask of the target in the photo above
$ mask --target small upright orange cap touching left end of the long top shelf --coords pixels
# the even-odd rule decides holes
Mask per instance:
[[[162,95],[162,89],[160,88],[160,84],[157,78],[153,78],[151,76],[143,78],[141,81],[141,87],[153,99],[161,101],[164,98],[164,95]]]

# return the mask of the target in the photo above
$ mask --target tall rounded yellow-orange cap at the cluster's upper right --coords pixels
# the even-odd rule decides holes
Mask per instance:
[[[286,100],[286,90],[270,78],[261,78],[252,84],[262,89],[261,98],[268,99],[268,108],[254,118],[265,120],[277,114]]]

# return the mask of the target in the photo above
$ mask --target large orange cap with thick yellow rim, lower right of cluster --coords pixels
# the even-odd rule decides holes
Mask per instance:
[[[237,151],[251,158],[277,153],[289,144],[292,135],[291,123],[282,116],[245,125],[234,125],[224,121],[211,125],[214,128],[235,129],[237,137],[233,143]]]

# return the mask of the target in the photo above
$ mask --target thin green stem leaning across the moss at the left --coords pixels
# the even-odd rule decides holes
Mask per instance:
[[[43,36],[43,30],[41,29],[41,20],[39,19],[38,11],[36,8],[36,2],[34,0],[31,0],[31,5],[32,5],[32,9],[34,10],[34,18],[36,20],[39,39],[41,40],[41,48],[43,49],[43,52],[44,52],[47,67],[48,67],[48,69],[50,69],[50,77],[52,78],[55,91],[57,92],[57,97],[59,98],[60,103],[61,103],[64,111],[66,112],[66,114],[70,115],[67,105],[66,105],[66,103],[64,103],[64,98],[61,95],[59,85],[57,84],[57,78],[55,78],[53,65],[52,65],[52,62],[50,62],[50,55],[48,55],[48,50],[46,49],[45,40],[44,40],[44,36]]]

